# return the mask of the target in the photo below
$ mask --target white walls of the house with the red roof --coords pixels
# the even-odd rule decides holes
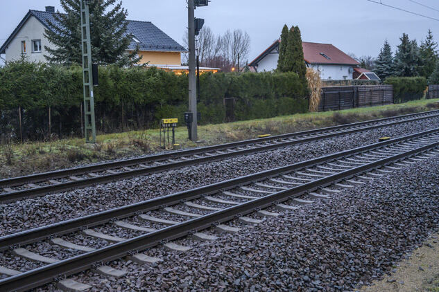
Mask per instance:
[[[277,68],[279,53],[273,51],[259,61],[258,72],[269,72]],[[320,72],[322,80],[352,80],[354,79],[354,66],[332,64],[309,64],[310,68]]]

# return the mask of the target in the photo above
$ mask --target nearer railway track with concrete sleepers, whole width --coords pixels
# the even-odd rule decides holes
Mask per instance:
[[[87,288],[62,279],[89,268],[123,277],[126,271],[105,263],[126,256],[137,264],[160,262],[148,248],[183,252],[191,247],[171,240],[212,241],[220,232],[240,231],[230,221],[257,224],[438,155],[439,128],[0,237],[1,258],[8,259],[0,262],[0,291],[53,280],[64,289]],[[55,248],[63,250],[58,257]],[[28,261],[34,264],[26,271]]]

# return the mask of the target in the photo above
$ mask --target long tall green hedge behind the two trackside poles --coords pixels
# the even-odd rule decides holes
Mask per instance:
[[[200,76],[201,124],[268,118],[306,112],[307,88],[295,73],[206,73]],[[187,75],[155,68],[99,68],[94,90],[100,132],[156,127],[161,118],[179,118],[188,104]],[[21,107],[25,138],[44,138],[51,108],[52,132],[80,134],[82,70],[11,62],[0,68],[0,132],[17,137]]]

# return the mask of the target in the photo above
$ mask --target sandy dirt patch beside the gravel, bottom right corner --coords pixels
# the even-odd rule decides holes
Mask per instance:
[[[392,275],[363,286],[361,292],[433,291],[439,292],[439,234],[433,234],[424,246],[395,267]]]

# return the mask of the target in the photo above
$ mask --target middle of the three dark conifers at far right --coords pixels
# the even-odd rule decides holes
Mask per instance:
[[[401,44],[395,53],[395,62],[393,63],[393,75],[399,77],[413,77],[419,75],[420,55],[418,43],[416,40],[411,41],[408,35],[402,34]]]

